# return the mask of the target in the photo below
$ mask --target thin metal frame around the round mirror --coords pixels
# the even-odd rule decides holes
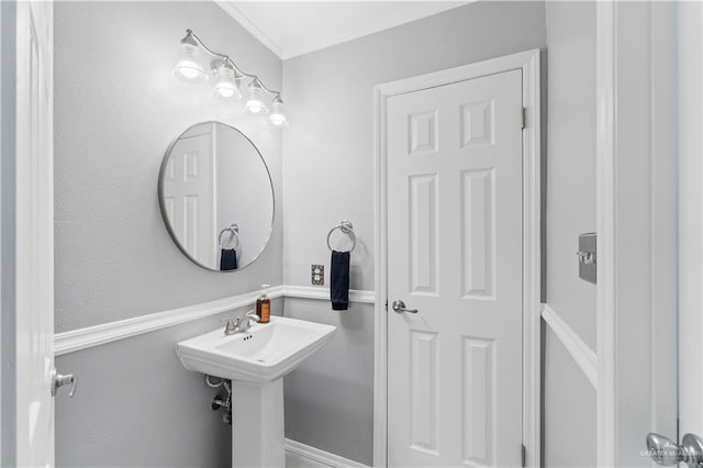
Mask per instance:
[[[199,126],[199,125],[204,125],[204,124],[220,124],[220,125],[224,125],[227,126],[232,130],[234,130],[235,132],[237,132],[238,134],[241,134],[242,136],[244,136],[244,138],[246,138],[247,142],[249,142],[249,144],[252,145],[252,147],[256,151],[256,154],[259,156],[259,158],[261,159],[261,163],[264,164],[264,169],[266,169],[266,175],[268,176],[268,183],[269,187],[271,188],[271,222],[269,224],[269,229],[268,229],[268,233],[266,234],[266,242],[264,243],[264,245],[261,246],[261,249],[256,254],[256,256],[252,259],[252,261],[249,261],[248,264],[246,264],[245,266],[234,269],[234,270],[221,270],[221,269],[214,269],[214,268],[210,268],[207,265],[201,264],[200,261],[198,261],[192,255],[190,255],[190,253],[186,249],[186,247],[180,243],[180,241],[178,239],[178,236],[176,235],[176,232],[174,231],[174,229],[171,227],[171,223],[170,220],[168,219],[168,215],[166,213],[166,203],[164,202],[164,174],[166,172],[166,166],[168,164],[168,159],[171,155],[171,151],[174,149],[174,146],[176,146],[176,144],[178,143],[178,141],[181,138],[181,136],[183,136],[186,133],[188,133],[191,129]],[[203,268],[208,271],[214,271],[214,272],[224,272],[224,274],[228,274],[228,272],[236,272],[236,271],[242,271],[246,268],[248,268],[250,265],[254,265],[256,263],[256,260],[258,260],[258,258],[261,256],[261,254],[264,253],[264,250],[266,249],[266,247],[268,246],[268,243],[271,241],[271,234],[274,233],[274,222],[276,220],[276,190],[274,190],[274,179],[271,178],[271,171],[268,168],[268,165],[266,164],[266,159],[264,159],[264,156],[261,155],[261,152],[259,151],[259,148],[254,144],[254,142],[252,141],[252,138],[249,138],[248,136],[246,136],[244,134],[244,132],[242,132],[241,130],[226,124],[224,122],[220,122],[216,120],[208,120],[208,121],[203,121],[203,122],[198,122],[194,123],[192,125],[190,125],[188,129],[183,130],[178,136],[176,136],[171,143],[168,145],[168,147],[166,148],[166,153],[164,154],[164,158],[161,159],[161,166],[160,169],[158,171],[158,205],[159,209],[161,211],[161,220],[164,220],[164,224],[166,225],[166,231],[168,231],[168,235],[171,237],[171,241],[174,241],[174,244],[176,244],[176,246],[178,247],[178,249],[193,264],[198,265],[200,268]]]

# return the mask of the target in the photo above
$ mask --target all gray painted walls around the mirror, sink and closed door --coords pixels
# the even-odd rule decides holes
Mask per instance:
[[[576,234],[594,229],[594,22],[588,7],[548,3],[545,13],[542,2],[472,3],[287,60],[291,127],[282,160],[278,133],[224,110],[207,87],[170,75],[178,40],[190,26],[213,48],[280,85],[280,60],[214,4],[60,2],[55,21],[57,332],[245,292],[260,282],[308,286],[310,264],[328,267],[325,236],[345,218],[358,238],[352,287],[373,289],[373,86],[548,44],[548,299],[593,345],[594,292],[576,279],[573,261]],[[560,118],[566,109],[577,111]],[[166,146],[209,119],[243,129],[274,175],[271,244],[245,272],[192,265],[158,212],[156,177]],[[560,204],[567,199],[587,214],[576,216]],[[338,327],[324,353],[286,379],[287,436],[370,464],[372,307],[354,304],[341,313],[324,302],[288,299],[277,308]],[[58,358],[62,371],[80,379],[76,399],[57,400],[59,465],[227,464],[228,432],[208,410],[212,391],[172,349],[178,339],[216,326],[216,319]],[[546,461],[592,465],[568,441],[593,438],[593,392],[585,379],[579,383],[565,349],[549,334],[546,339]],[[563,387],[565,379],[573,386]],[[563,417],[577,410],[570,421]]]

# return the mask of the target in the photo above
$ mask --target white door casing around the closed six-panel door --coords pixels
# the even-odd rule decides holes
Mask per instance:
[[[539,49],[378,85],[375,116],[375,332],[373,466],[388,465],[388,99],[488,75],[523,73],[523,445],[525,465],[540,466],[540,313],[542,313],[542,90]],[[517,449],[517,447],[516,447]]]

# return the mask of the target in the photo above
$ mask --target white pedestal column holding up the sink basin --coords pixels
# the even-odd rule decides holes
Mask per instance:
[[[283,379],[232,382],[232,466],[284,467]]]

